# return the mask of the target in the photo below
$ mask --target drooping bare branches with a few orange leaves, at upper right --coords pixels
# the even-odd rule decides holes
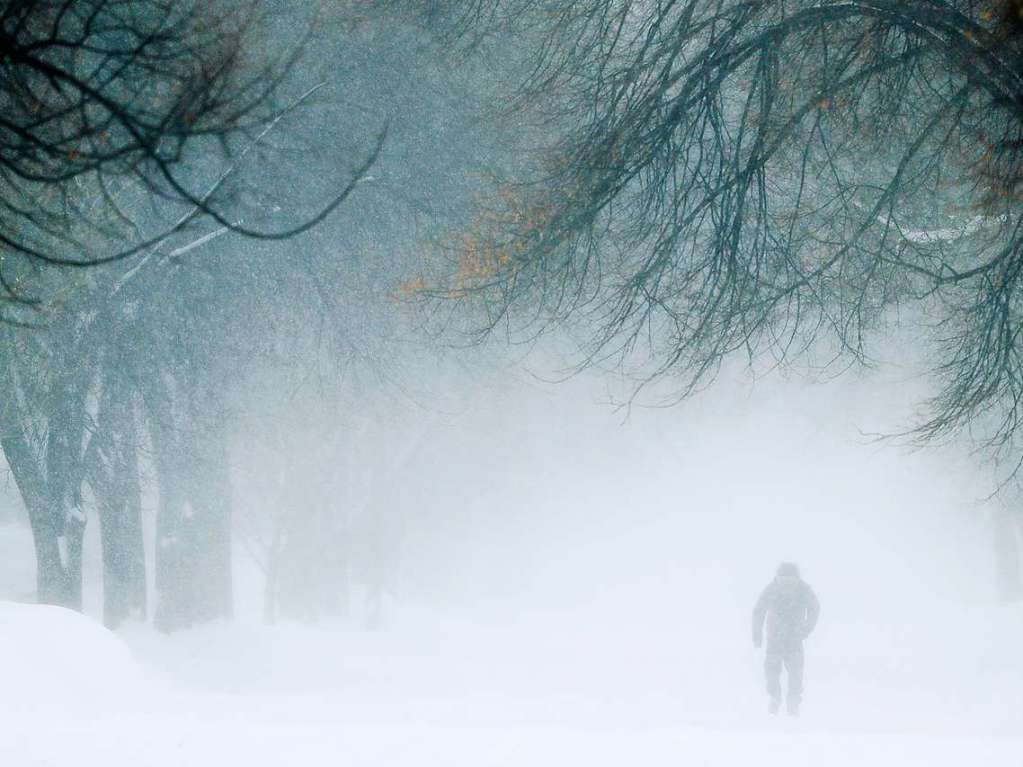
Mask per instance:
[[[919,435],[983,424],[1011,445],[1019,3],[434,5],[533,45],[519,103],[557,132],[542,171],[455,243],[440,285],[485,330],[578,322],[585,363],[638,360],[642,380],[685,396],[736,354],[862,360],[898,310],[937,355]]]

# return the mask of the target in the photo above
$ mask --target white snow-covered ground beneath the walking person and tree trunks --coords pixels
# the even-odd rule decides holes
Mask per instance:
[[[235,624],[168,639],[137,627],[124,651],[88,619],[2,606],[25,672],[5,678],[42,679],[46,696],[7,687],[23,705],[4,706],[5,765],[1008,767],[1023,753],[1013,612],[958,616],[988,632],[984,657],[957,656],[954,632],[884,664],[866,634],[844,653],[826,636],[804,716],[791,720],[762,712],[745,644],[678,626],[424,614],[381,632]],[[34,630],[64,641],[31,643]],[[46,669],[55,647],[81,652],[82,666]]]

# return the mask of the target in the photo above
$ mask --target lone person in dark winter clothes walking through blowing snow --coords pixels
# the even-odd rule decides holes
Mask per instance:
[[[813,631],[820,615],[820,603],[813,589],[799,577],[799,568],[782,562],[774,579],[760,594],[753,607],[753,645],[763,644],[767,624],[767,650],[764,674],[767,677],[767,710],[776,714],[782,705],[782,667],[789,677],[786,708],[799,714],[803,698],[803,640]]]

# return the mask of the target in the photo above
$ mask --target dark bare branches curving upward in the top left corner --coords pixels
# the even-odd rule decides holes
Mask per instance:
[[[294,30],[312,24],[275,14],[263,0],[4,4],[0,285],[8,303],[35,298],[39,264],[123,259],[201,220],[288,237],[345,199],[361,172],[292,225],[241,221],[232,163],[288,109],[304,43]],[[363,170],[374,157],[368,152]]]

